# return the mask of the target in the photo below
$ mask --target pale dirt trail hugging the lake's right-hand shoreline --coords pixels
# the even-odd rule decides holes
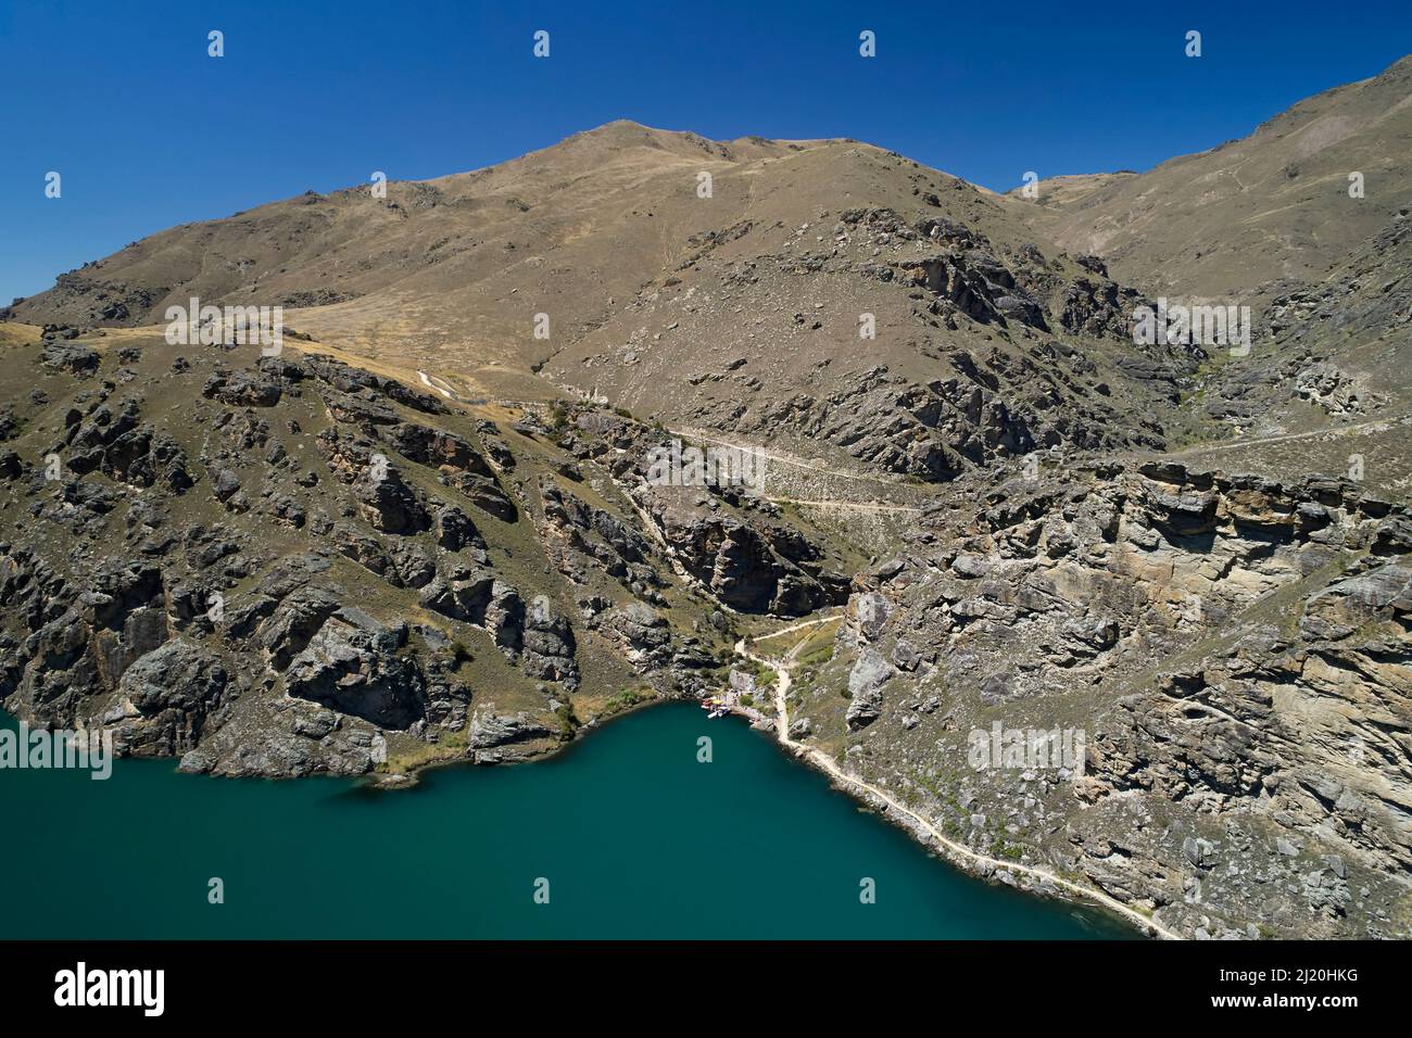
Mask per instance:
[[[837,619],[837,617],[826,617],[826,620],[834,620],[834,619]],[[820,621],[810,620],[810,621],[805,621],[802,624],[795,624],[794,628],[785,628],[785,630],[775,631],[774,634],[765,636],[765,638],[772,638],[772,637],[777,637],[779,634],[785,634],[788,630],[798,630],[801,627],[808,627],[808,626],[810,626],[813,623],[823,623],[823,621],[825,620],[820,620]],[[1130,922],[1135,924],[1144,933],[1149,933],[1152,936],[1159,936],[1159,938],[1163,938],[1163,939],[1168,939],[1168,941],[1182,941],[1183,939],[1179,933],[1176,933],[1173,931],[1169,931],[1166,926],[1163,926],[1162,924],[1156,922],[1155,919],[1151,919],[1147,915],[1142,915],[1137,909],[1134,909],[1134,908],[1123,904],[1121,901],[1118,901],[1117,898],[1110,897],[1108,894],[1104,894],[1101,890],[1099,890],[1096,887],[1089,887],[1089,885],[1084,885],[1082,883],[1075,883],[1073,880],[1066,880],[1062,876],[1055,876],[1048,869],[1039,869],[1036,866],[1017,864],[1015,861],[1004,861],[1001,859],[987,857],[986,854],[980,854],[980,853],[971,850],[970,847],[967,847],[967,846],[964,846],[962,843],[956,843],[955,840],[947,839],[946,836],[942,835],[942,832],[935,825],[932,825],[928,819],[925,819],[922,815],[919,815],[914,809],[911,809],[907,805],[904,805],[892,794],[890,794],[890,792],[887,792],[884,789],[880,789],[878,787],[873,785],[871,782],[866,782],[866,781],[863,781],[861,778],[858,778],[856,775],[850,775],[847,771],[844,771],[839,765],[837,761],[834,761],[830,756],[827,756],[822,750],[819,750],[816,747],[812,747],[812,746],[805,746],[805,744],[798,743],[794,739],[791,739],[789,737],[789,703],[788,703],[788,693],[789,693],[791,685],[794,684],[794,679],[792,679],[789,671],[794,668],[795,655],[803,647],[803,644],[805,644],[805,641],[801,640],[795,645],[792,645],[789,648],[789,651],[786,651],[782,657],[779,657],[777,660],[767,660],[765,657],[760,657],[760,655],[755,655],[754,652],[751,652],[750,648],[748,648],[748,645],[747,645],[746,638],[741,638],[740,641],[736,643],[736,654],[737,655],[740,655],[740,657],[743,657],[746,660],[750,660],[750,661],[753,661],[755,664],[760,664],[761,667],[768,667],[777,675],[777,679],[775,679],[775,715],[777,715],[775,716],[775,739],[779,741],[779,746],[784,750],[792,753],[795,757],[799,757],[801,760],[808,761],[809,764],[813,764],[816,768],[819,768],[820,771],[823,771],[825,774],[827,774],[830,778],[833,778],[834,782],[839,787],[842,787],[843,789],[851,791],[854,794],[857,794],[858,791],[861,791],[861,792],[868,794],[870,797],[875,798],[877,801],[882,802],[885,805],[884,813],[887,813],[887,812],[891,811],[891,812],[897,812],[898,815],[902,815],[907,819],[911,819],[911,822],[915,825],[915,828],[918,828],[922,832],[925,832],[935,842],[935,845],[940,850],[940,853],[945,857],[950,859],[950,861],[953,864],[956,864],[956,866],[960,866],[963,869],[973,869],[974,866],[988,866],[988,867],[991,867],[994,870],[1005,870],[1005,871],[1010,871],[1010,873],[1021,873],[1021,874],[1025,874],[1025,876],[1032,876],[1035,878],[1039,878],[1039,880],[1043,880],[1046,883],[1051,883],[1055,887],[1066,890],[1070,894],[1075,894],[1075,895],[1077,895],[1080,898],[1084,898],[1086,901],[1091,901],[1091,902],[1100,904],[1104,908],[1108,908],[1110,911],[1117,912],[1123,918],[1125,918]]]

